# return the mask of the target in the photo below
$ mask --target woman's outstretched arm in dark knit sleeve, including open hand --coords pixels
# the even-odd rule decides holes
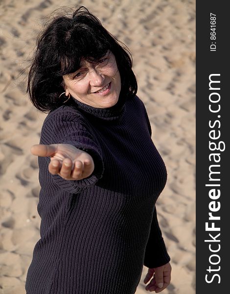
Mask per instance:
[[[41,186],[54,184],[62,190],[75,194],[94,185],[103,175],[102,150],[94,135],[92,125],[72,107],[62,106],[48,114],[42,127],[40,145],[43,147],[34,148],[45,148],[45,153],[47,146],[52,147],[49,151],[52,153],[49,153],[51,156],[42,157],[39,155],[41,153],[36,153],[39,156]],[[53,147],[57,148],[57,146],[58,154],[55,156]],[[68,156],[66,150],[60,149],[63,146],[65,148],[69,146]],[[71,163],[71,169],[63,164],[64,159],[65,162]],[[89,167],[87,167],[87,161],[89,161]],[[58,166],[53,167],[53,162]],[[80,170],[77,164],[82,165]]]

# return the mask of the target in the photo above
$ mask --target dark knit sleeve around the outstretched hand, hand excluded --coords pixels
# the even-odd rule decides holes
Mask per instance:
[[[81,188],[94,185],[102,177],[104,166],[102,151],[91,127],[74,109],[61,107],[48,115],[42,128],[40,144],[70,144],[92,156],[94,170],[82,180],[65,180],[60,175],[51,175],[53,181],[62,189],[77,193]],[[48,166],[50,157],[47,157]]]

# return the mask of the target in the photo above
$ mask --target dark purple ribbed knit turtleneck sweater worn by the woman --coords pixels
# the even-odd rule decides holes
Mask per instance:
[[[165,165],[138,97],[105,109],[73,100],[47,115],[40,144],[85,150],[95,168],[69,181],[50,174],[50,158],[39,157],[41,239],[26,293],[134,294],[143,265],[170,260],[155,208]]]

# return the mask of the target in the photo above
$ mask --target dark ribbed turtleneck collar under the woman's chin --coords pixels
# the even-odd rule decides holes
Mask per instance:
[[[125,102],[127,98],[119,97],[117,103],[109,108],[96,108],[91,105],[82,103],[74,98],[72,98],[72,100],[74,100],[75,106],[78,109],[87,114],[90,114],[105,121],[117,121],[120,120],[125,113]]]

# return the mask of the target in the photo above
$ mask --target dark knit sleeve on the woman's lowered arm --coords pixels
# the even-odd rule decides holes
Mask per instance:
[[[170,261],[157,219],[156,206],[153,213],[149,239],[145,247],[144,265],[150,269],[165,265]]]

